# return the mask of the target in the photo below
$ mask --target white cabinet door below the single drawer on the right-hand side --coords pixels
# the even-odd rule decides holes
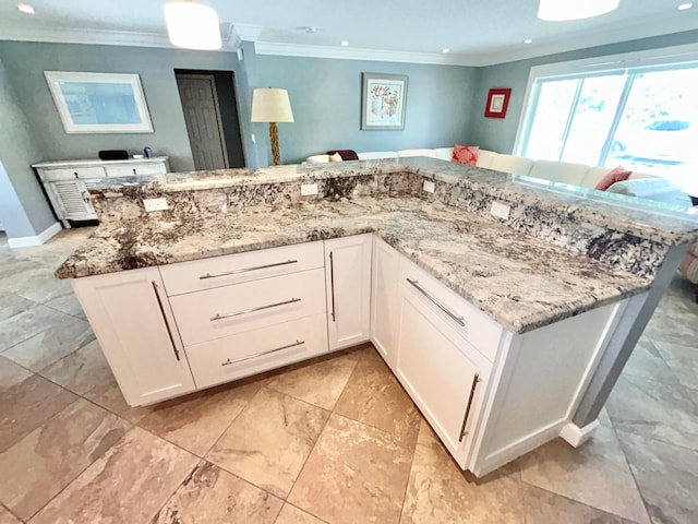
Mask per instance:
[[[396,374],[465,469],[491,365],[423,296],[402,286],[401,301]]]

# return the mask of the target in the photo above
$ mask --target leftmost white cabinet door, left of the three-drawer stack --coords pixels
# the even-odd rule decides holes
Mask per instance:
[[[129,405],[195,389],[157,267],[77,278],[73,288]]]

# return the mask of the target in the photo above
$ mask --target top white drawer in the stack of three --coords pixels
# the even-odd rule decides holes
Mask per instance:
[[[315,267],[324,267],[322,241],[165,265],[160,273],[171,297]]]

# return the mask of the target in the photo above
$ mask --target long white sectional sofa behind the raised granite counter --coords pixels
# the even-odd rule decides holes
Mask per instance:
[[[433,150],[401,150],[376,151],[357,153],[360,160],[374,160],[382,158],[405,158],[410,156],[426,156],[442,160],[450,160],[453,147],[436,147]],[[329,162],[328,155],[309,156],[309,164],[325,164]],[[522,156],[506,155],[494,151],[480,150],[478,152],[478,167],[486,167],[497,171],[552,180],[554,182],[581,186],[594,189],[597,183],[611,170],[607,167],[587,166],[586,164],[573,164],[556,160],[533,160]],[[673,186],[666,179],[645,172],[633,172],[625,182],[616,182],[610,192],[637,196],[648,200],[657,200],[684,206],[691,205],[690,198],[679,188]]]

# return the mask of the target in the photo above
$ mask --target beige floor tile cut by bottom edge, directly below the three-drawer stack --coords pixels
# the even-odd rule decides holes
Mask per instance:
[[[153,524],[272,524],[284,501],[202,462],[184,480]]]

